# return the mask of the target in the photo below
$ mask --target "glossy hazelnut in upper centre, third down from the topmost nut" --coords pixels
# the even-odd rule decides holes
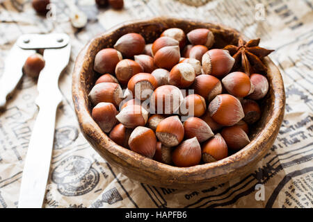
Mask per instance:
[[[172,69],[179,62],[179,46],[165,46],[154,55],[154,64],[163,69]]]

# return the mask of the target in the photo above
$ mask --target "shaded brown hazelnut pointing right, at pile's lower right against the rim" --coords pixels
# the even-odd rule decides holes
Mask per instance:
[[[250,143],[248,135],[240,126],[225,127],[220,134],[225,139],[227,147],[233,151],[239,151]]]

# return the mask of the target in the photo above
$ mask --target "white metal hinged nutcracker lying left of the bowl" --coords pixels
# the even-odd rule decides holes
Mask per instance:
[[[44,49],[45,68],[38,78],[39,112],[33,126],[29,148],[24,161],[18,207],[42,207],[45,198],[52,147],[56,109],[62,101],[58,78],[70,60],[70,37],[64,33],[29,34],[19,37],[5,63],[0,80],[0,106],[15,89],[22,77],[26,59],[38,49]]]

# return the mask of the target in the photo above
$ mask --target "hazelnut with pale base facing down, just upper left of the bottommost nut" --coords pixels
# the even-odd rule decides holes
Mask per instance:
[[[167,117],[157,126],[156,135],[164,146],[177,146],[184,139],[184,126],[179,117]]]

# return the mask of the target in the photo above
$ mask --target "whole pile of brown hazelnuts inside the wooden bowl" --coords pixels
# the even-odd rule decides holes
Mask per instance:
[[[232,70],[229,51],[213,44],[207,28],[168,28],[152,44],[122,35],[95,56],[102,76],[89,94],[93,119],[116,144],[177,167],[239,151],[250,143],[268,80]]]

